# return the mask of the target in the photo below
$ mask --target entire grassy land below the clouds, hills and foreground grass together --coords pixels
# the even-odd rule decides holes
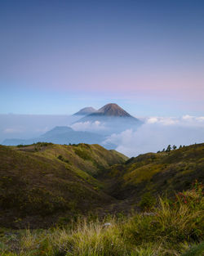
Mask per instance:
[[[204,144],[131,159],[98,145],[0,146],[0,163],[2,256],[204,253]]]

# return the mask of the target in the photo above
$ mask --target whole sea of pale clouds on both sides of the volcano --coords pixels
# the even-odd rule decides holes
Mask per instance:
[[[136,156],[157,152],[169,144],[180,146],[204,142],[204,116],[184,115],[175,117],[142,118],[139,128],[124,128],[111,132],[102,146],[114,145],[124,155]],[[76,131],[107,133],[109,127],[100,121],[76,122],[76,117],[67,115],[0,115],[0,139],[36,137],[55,126],[70,126]],[[120,127],[121,130],[121,127]],[[112,130],[111,130],[112,131]],[[1,142],[0,141],[0,142]]]

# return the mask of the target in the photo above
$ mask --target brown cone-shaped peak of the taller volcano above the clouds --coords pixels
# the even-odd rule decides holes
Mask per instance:
[[[95,113],[92,113],[90,116],[94,115],[104,115],[104,116],[116,116],[116,117],[131,117],[125,110],[123,110],[116,103],[109,103],[97,110]]]

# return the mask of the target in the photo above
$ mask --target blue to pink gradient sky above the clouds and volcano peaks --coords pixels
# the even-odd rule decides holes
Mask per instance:
[[[204,2],[0,1],[0,113],[204,115]]]

